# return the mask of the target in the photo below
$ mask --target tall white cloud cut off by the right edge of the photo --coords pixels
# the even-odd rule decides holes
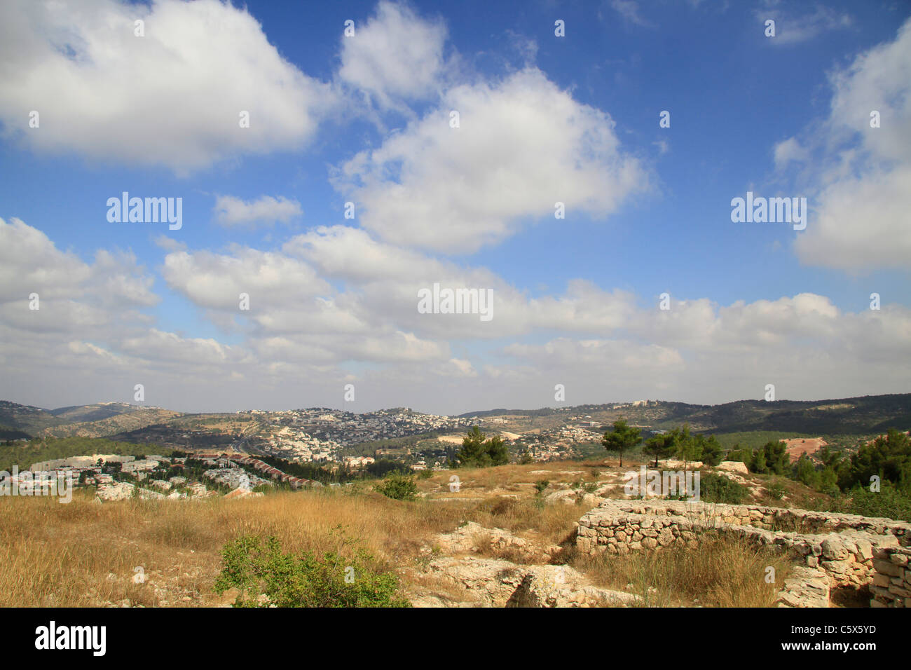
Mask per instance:
[[[896,39],[835,70],[828,119],[806,133],[815,216],[795,242],[804,263],[906,268],[911,254],[911,19]],[[871,112],[880,127],[871,127]],[[791,140],[788,140],[791,141]],[[781,146],[781,145],[779,145]],[[776,149],[777,156],[777,149]]]

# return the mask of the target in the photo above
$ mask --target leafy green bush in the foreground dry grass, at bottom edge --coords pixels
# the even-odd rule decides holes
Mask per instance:
[[[215,592],[236,588],[235,607],[410,607],[398,597],[398,578],[377,572],[366,551],[343,558],[330,551],[317,558],[309,551],[283,553],[277,538],[265,546],[257,536],[228,542]],[[265,596],[265,597],[261,597]]]

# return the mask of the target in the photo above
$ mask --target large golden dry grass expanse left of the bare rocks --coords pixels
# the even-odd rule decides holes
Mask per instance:
[[[285,551],[374,553],[387,569],[412,565],[435,534],[466,521],[547,543],[568,540],[580,510],[504,499],[401,502],[378,494],[279,492],[246,500],[124,500],[85,494],[62,505],[5,498],[0,505],[0,605],[211,605],[220,549],[244,534],[276,535]],[[524,531],[524,532],[523,532]],[[141,566],[147,581],[132,581]]]

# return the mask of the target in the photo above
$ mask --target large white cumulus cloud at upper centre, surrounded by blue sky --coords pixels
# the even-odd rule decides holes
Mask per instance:
[[[537,68],[447,90],[440,108],[358,153],[333,180],[363,208],[364,228],[445,253],[500,242],[527,219],[553,219],[556,202],[568,218],[606,217],[649,184],[609,115]]]

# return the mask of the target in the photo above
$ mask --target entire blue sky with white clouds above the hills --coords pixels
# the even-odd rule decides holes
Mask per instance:
[[[0,4],[19,403],[906,393],[908,211],[908,2]]]

